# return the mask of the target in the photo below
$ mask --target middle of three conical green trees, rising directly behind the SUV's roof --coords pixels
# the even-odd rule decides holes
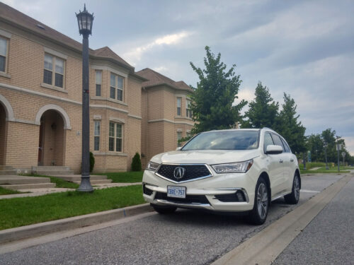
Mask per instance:
[[[249,103],[249,110],[245,114],[248,119],[242,122],[242,128],[278,129],[279,103],[270,96],[269,88],[259,82],[255,95],[255,100]]]

